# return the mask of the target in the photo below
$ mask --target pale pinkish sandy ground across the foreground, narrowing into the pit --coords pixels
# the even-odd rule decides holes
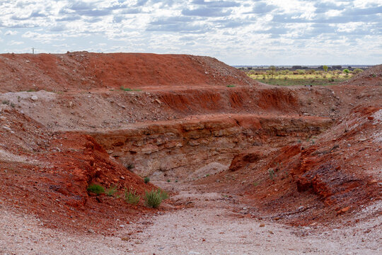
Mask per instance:
[[[354,226],[290,227],[248,217],[235,197],[156,184],[174,188],[171,199],[185,208],[120,222],[115,237],[66,234],[0,208],[0,254],[381,254],[382,216],[364,217],[381,212],[382,203],[364,208]]]

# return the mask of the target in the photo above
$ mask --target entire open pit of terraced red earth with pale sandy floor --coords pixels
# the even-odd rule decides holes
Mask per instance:
[[[382,249],[382,65],[287,87],[211,57],[4,54],[0,92],[0,254]]]

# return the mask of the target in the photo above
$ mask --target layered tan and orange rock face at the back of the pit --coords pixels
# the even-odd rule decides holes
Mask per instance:
[[[317,135],[330,118],[286,115],[214,115],[91,132],[110,156],[140,176],[187,179],[218,162],[229,165],[245,148],[276,148]]]

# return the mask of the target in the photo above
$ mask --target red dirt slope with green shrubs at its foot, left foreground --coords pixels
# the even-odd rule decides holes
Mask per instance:
[[[50,227],[96,232],[150,211],[116,196],[124,188],[142,194],[154,186],[110,159],[92,137],[50,132],[10,107],[0,117],[0,205],[37,215]],[[92,195],[91,183],[116,186],[117,193]]]

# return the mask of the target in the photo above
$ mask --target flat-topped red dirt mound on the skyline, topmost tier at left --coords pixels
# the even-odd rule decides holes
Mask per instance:
[[[256,84],[212,57],[71,52],[0,55],[0,92]]]

